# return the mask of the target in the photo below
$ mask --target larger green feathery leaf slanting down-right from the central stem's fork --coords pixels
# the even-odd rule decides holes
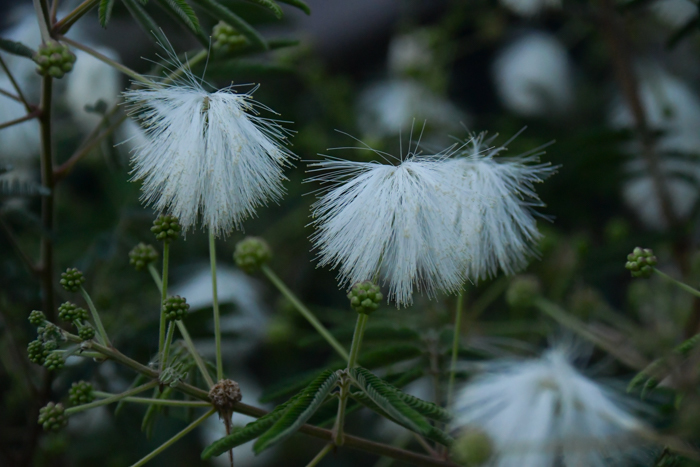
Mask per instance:
[[[406,428],[427,435],[432,426],[423,416],[406,404],[390,385],[374,376],[369,370],[358,367],[350,370],[355,385],[382,412]],[[359,402],[362,402],[358,399]]]

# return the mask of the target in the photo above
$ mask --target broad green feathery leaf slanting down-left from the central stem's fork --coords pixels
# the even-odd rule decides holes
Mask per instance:
[[[284,414],[253,445],[256,454],[294,434],[326,401],[338,383],[338,374],[329,370],[321,373],[299,398],[285,410]]]

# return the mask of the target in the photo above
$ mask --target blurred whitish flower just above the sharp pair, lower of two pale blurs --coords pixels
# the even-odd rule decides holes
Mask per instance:
[[[442,133],[458,130],[467,116],[451,102],[412,79],[390,79],[362,91],[357,124],[369,138],[410,131],[414,120],[427,120]]]

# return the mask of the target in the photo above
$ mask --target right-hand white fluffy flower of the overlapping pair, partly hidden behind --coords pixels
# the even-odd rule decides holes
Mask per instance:
[[[502,146],[491,146],[497,135],[471,138],[460,156],[445,165],[446,176],[461,177],[458,203],[460,238],[467,244],[467,276],[473,280],[496,275],[500,268],[513,274],[536,255],[541,238],[535,208],[544,206],[534,184],[554,173],[549,163],[538,164],[541,146],[516,157],[495,157],[506,151],[515,135]]]

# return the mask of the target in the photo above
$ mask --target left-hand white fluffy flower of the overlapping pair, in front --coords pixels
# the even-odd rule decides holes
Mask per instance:
[[[454,219],[458,187],[445,177],[445,155],[392,163],[328,157],[310,164],[308,181],[325,185],[312,206],[319,265],[338,268],[343,286],[378,279],[397,306],[412,303],[414,286],[428,295],[455,292],[465,280]]]

